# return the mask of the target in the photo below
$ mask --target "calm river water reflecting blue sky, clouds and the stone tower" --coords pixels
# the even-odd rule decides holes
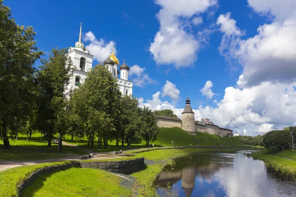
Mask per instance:
[[[164,167],[155,186],[161,197],[296,197],[296,177],[275,172],[252,151],[193,155]]]

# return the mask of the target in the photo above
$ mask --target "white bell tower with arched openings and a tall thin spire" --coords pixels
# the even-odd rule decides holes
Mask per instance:
[[[87,48],[81,42],[82,22],[80,23],[79,40],[75,42],[75,47],[70,47],[66,56],[68,61],[72,62],[74,67],[73,76],[70,79],[70,84],[67,87],[67,92],[71,89],[78,88],[86,78],[86,72],[92,68],[93,55],[91,55]]]

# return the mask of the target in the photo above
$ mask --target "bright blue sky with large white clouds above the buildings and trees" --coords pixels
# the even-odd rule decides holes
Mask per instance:
[[[296,126],[296,0],[4,0],[45,58],[82,41],[93,66],[114,49],[140,106],[235,135]],[[37,62],[36,66],[40,63]]]

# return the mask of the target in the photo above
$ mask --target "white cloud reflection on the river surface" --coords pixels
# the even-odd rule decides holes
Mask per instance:
[[[264,168],[262,161],[254,161],[240,154],[232,167],[220,168],[215,177],[229,197],[284,197],[293,194],[291,187],[287,188],[276,179],[271,179],[262,170]]]

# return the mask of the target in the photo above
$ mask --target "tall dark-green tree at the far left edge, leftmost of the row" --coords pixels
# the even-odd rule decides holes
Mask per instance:
[[[9,148],[8,136],[15,132],[8,132],[19,130],[30,113],[34,64],[42,52],[36,47],[34,29],[16,25],[3,0],[0,0],[0,27],[0,132],[4,147]]]

